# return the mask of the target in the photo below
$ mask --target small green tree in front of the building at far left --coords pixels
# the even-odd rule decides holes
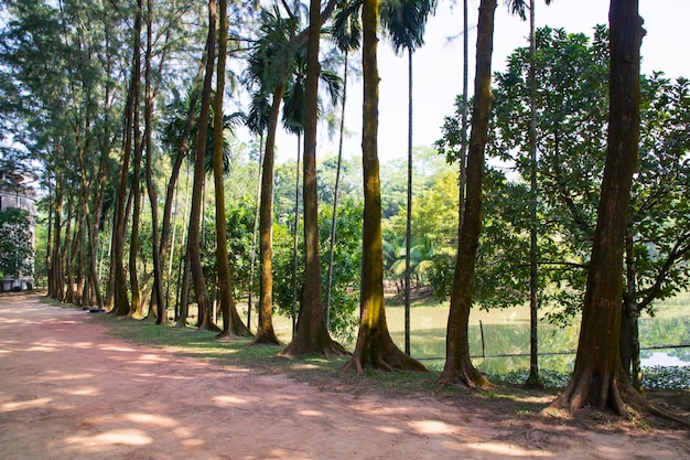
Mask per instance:
[[[0,212],[0,272],[19,278],[32,271],[33,246],[29,212],[9,207]]]

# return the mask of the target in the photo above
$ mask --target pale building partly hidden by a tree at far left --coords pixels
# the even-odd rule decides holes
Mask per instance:
[[[17,207],[29,212],[31,246],[35,248],[36,193],[24,183],[22,175],[0,171],[0,212],[9,207]],[[10,277],[0,279],[0,291],[33,289],[33,286],[34,280],[31,274],[29,274],[29,276],[22,276],[20,274],[18,279]]]

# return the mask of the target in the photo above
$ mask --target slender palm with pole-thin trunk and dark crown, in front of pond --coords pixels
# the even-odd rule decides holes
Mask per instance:
[[[387,1],[382,23],[390,34],[393,50],[408,52],[408,191],[405,264],[405,352],[410,354],[410,249],[412,242],[412,55],[424,44],[424,28],[436,0]]]

